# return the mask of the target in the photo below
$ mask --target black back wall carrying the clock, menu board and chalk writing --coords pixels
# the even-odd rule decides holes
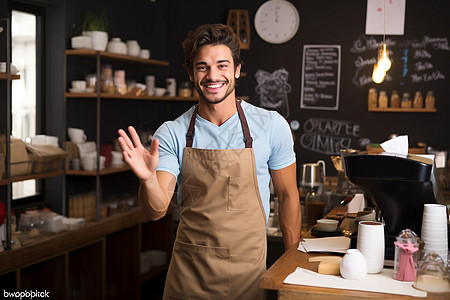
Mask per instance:
[[[176,1],[173,1],[176,2]],[[405,31],[403,36],[387,36],[390,45],[393,66],[388,72],[390,81],[380,85],[366,82],[371,77],[373,64],[361,68],[355,66],[359,57],[375,58],[376,50],[353,53],[351,48],[355,41],[365,39],[377,43],[382,35],[365,36],[366,1],[291,1],[300,14],[300,28],[296,36],[281,45],[264,42],[253,26],[258,7],[265,1],[183,1],[173,6],[169,14],[168,40],[169,60],[172,76],[182,80],[186,77],[181,67],[183,62],[180,43],[187,31],[202,23],[225,23],[228,9],[247,9],[251,23],[250,50],[243,50],[245,62],[243,78],[238,86],[238,95],[248,95],[251,101],[258,101],[255,92],[257,70],[274,72],[284,68],[289,72],[288,83],[292,91],[288,94],[290,114],[289,121],[298,120],[300,129],[295,131],[297,164],[323,159],[327,162],[330,174],[336,174],[332,167],[330,155],[335,154],[333,148],[349,145],[363,149],[368,142],[380,143],[391,133],[408,134],[412,142],[424,142],[437,149],[450,148],[450,101],[448,99],[450,78],[450,21],[449,4],[443,1],[408,0],[406,3]],[[172,6],[171,6],[172,7]],[[441,49],[433,48],[436,44],[426,43],[420,49],[432,57],[420,60],[414,58],[411,43],[423,42],[424,38],[439,38]],[[340,45],[341,76],[339,92],[339,109],[310,110],[300,109],[302,55],[304,45]],[[404,50],[409,49],[408,74],[403,77]],[[424,72],[415,71],[415,63],[428,61],[433,65],[429,74],[440,72],[438,79],[412,82],[411,75],[425,76]],[[443,78],[442,78],[443,77]],[[417,78],[417,77],[416,77]],[[416,79],[417,80],[417,79]],[[436,95],[436,113],[374,113],[367,111],[367,94],[371,87],[378,91],[392,90],[400,93],[409,92],[414,96],[416,91],[425,93],[433,90]],[[316,124],[312,130],[304,126]],[[328,126],[328,127],[327,127]],[[334,127],[333,127],[334,126]],[[339,129],[339,130],[338,130]],[[347,130],[348,132],[346,132]],[[307,131],[307,132],[306,132]],[[352,132],[351,134],[349,132]],[[337,146],[336,146],[337,144]]]

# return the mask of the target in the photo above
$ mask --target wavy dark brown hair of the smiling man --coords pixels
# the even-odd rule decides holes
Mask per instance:
[[[191,30],[182,47],[184,51],[184,67],[193,74],[192,58],[200,47],[205,45],[225,45],[231,50],[234,68],[242,64],[239,38],[230,26],[224,24],[205,24]]]

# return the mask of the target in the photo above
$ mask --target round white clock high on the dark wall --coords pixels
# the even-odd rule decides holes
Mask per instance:
[[[299,25],[298,11],[289,1],[269,0],[255,14],[256,33],[268,43],[289,41],[297,33]]]

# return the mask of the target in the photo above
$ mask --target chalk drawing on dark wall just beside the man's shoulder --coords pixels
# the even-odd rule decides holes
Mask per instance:
[[[292,91],[288,83],[289,72],[286,69],[278,69],[273,73],[257,70],[255,73],[255,92],[258,94],[255,104],[278,111],[285,118],[289,117],[288,93]]]

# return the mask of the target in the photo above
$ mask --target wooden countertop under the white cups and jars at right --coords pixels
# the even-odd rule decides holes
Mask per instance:
[[[304,237],[310,238],[310,232],[306,233]],[[404,295],[284,284],[284,279],[294,272],[297,267],[317,272],[319,262],[309,262],[308,259],[314,256],[326,255],[323,253],[303,253],[297,250],[297,246],[294,245],[287,250],[261,278],[260,287],[266,290],[277,290],[278,299],[347,300],[350,297],[355,299],[425,299]],[[450,299],[450,293],[428,293],[426,299]]]

